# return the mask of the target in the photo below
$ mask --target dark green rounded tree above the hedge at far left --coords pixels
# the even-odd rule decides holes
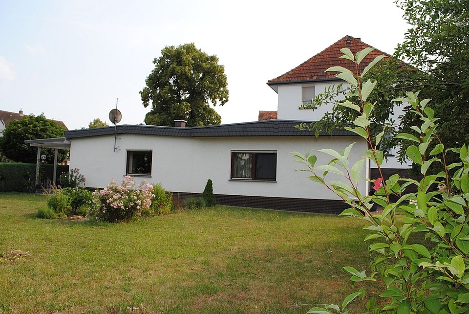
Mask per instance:
[[[35,163],[37,148],[24,143],[29,139],[54,138],[64,136],[64,127],[55,121],[46,119],[43,115],[25,115],[20,120],[13,120],[3,130],[0,137],[1,153],[8,159],[17,162]],[[43,149],[46,162],[54,161],[54,150]],[[63,160],[67,153],[59,150],[58,159]]]

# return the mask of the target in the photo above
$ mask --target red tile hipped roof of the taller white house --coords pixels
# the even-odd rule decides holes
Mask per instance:
[[[348,45],[347,40],[350,40]],[[326,49],[322,50],[314,57],[306,60],[298,67],[295,67],[294,69],[278,76],[275,79],[269,80],[267,84],[275,85],[296,81],[304,82],[335,79],[336,77],[334,75],[337,74],[337,72],[324,72],[328,67],[341,66],[352,69],[352,65],[354,65],[350,60],[339,59],[339,57],[342,55],[340,49],[344,47],[348,47],[355,55],[358,51],[371,46],[363,43],[360,38],[354,38],[347,35]],[[360,63],[359,71],[361,72],[371,61],[373,61],[376,56],[382,54],[390,56],[389,54],[378,49],[371,51]]]

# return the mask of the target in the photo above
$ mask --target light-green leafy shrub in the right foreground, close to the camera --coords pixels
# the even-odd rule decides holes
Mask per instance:
[[[342,58],[360,64],[371,49],[367,48],[353,55],[348,48],[342,48]],[[357,297],[367,298],[364,313],[434,313],[456,314],[469,312],[469,156],[466,144],[459,148],[448,147],[438,134],[440,119],[430,107],[430,99],[419,100],[419,92],[408,91],[405,98],[397,102],[410,104],[412,114],[418,116],[419,124],[410,127],[410,133],[396,135],[409,142],[406,156],[420,170],[420,181],[393,175],[384,180],[381,174],[383,151],[377,149],[384,132],[372,136],[371,120],[375,105],[369,102],[377,82],[363,77],[369,68],[380,61],[379,57],[357,73],[344,67],[331,67],[352,86],[349,95],[357,102],[338,102],[354,110],[358,117],[347,130],[363,137],[368,143],[364,157],[353,165],[348,155],[354,143],[341,152],[331,149],[320,153],[331,157],[327,165],[317,165],[317,156],[311,151],[302,155],[293,153],[297,161],[305,165],[311,179],[334,192],[350,207],[341,215],[361,217],[366,222],[364,229],[370,231],[365,241],[374,257],[370,270],[354,267],[343,269],[351,274],[350,280],[364,284],[379,281],[381,285],[367,291],[366,285],[345,297],[341,305],[325,304],[312,308],[308,313],[348,313],[347,306]],[[358,67],[356,67],[358,68]],[[448,157],[458,159],[448,164]],[[358,187],[365,157],[373,160],[381,174],[373,178],[376,195],[363,196]],[[440,164],[443,171],[432,173],[430,165]],[[341,176],[341,180],[329,181],[329,174]],[[450,173],[453,173],[452,175]],[[415,193],[405,193],[405,188],[414,185]],[[398,198],[391,201],[391,195]],[[384,207],[380,214],[371,212],[374,204]],[[398,211],[405,213],[400,218]],[[415,234],[425,234],[421,243]]]

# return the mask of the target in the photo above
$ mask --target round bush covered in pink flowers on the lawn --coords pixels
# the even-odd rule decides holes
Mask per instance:
[[[153,186],[146,181],[135,186],[130,176],[121,185],[111,180],[107,187],[93,192],[96,206],[90,214],[107,222],[129,221],[149,209],[154,198],[152,190]]]

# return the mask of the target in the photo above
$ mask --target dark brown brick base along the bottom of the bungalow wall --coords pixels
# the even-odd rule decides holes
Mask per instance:
[[[172,192],[175,197],[185,200],[201,197],[201,193]],[[289,210],[321,214],[340,214],[349,206],[340,200],[315,200],[283,197],[215,194],[218,205]]]

